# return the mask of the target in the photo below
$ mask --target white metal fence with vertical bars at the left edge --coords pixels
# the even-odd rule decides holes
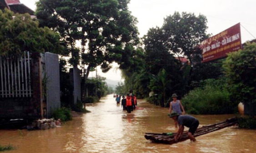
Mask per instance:
[[[30,70],[29,52],[16,60],[0,57],[0,98],[31,97]]]

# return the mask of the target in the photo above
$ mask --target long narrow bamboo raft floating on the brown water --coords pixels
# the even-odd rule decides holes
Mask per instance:
[[[194,137],[198,137],[203,134],[208,134],[210,132],[235,125],[236,123],[237,123],[237,118],[230,118],[230,119],[227,119],[222,122],[202,126],[201,128],[198,128],[196,130]],[[173,133],[172,135],[168,135],[167,133],[162,133],[162,134],[146,133],[145,138],[147,140],[151,140],[154,143],[173,144],[173,143],[178,143],[178,142],[185,141],[185,140],[189,139],[187,133],[188,133],[188,131],[183,131],[183,133],[182,133],[180,139],[178,139],[178,141],[175,141],[175,139],[174,139],[174,136],[177,133]]]

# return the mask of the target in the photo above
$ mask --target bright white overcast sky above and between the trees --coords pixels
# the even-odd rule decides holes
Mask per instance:
[[[20,0],[21,3],[35,10],[38,0]],[[208,33],[215,35],[229,27],[241,23],[242,43],[256,37],[256,0],[131,0],[129,10],[139,23],[142,37],[148,29],[163,24],[163,19],[175,11],[203,14],[208,19]],[[247,32],[247,30],[249,32]],[[113,67],[118,65],[113,64]],[[98,72],[100,69],[98,69]],[[120,71],[111,69],[101,76],[111,80],[121,80]],[[90,76],[95,76],[95,72]]]

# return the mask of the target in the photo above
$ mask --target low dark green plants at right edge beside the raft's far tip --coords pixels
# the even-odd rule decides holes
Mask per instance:
[[[255,117],[240,117],[238,118],[238,125],[240,128],[256,129]]]

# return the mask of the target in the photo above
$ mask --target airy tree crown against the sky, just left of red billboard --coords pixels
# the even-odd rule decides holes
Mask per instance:
[[[196,16],[186,12],[175,12],[167,16],[162,27],[166,48],[177,57],[185,55],[192,65],[194,62],[201,62],[198,57],[201,50],[198,46],[209,37],[206,34],[206,23],[206,16],[201,14]],[[193,57],[199,61],[194,61]]]

